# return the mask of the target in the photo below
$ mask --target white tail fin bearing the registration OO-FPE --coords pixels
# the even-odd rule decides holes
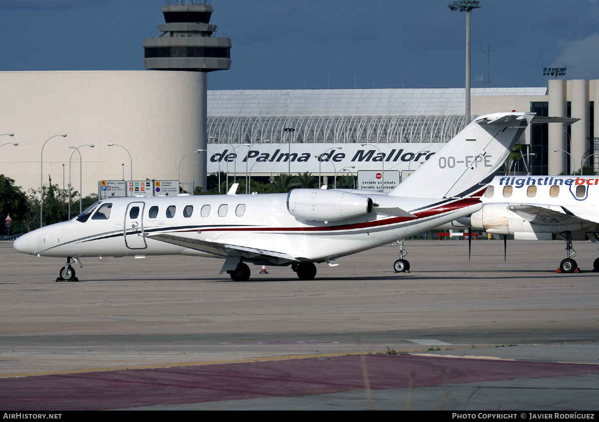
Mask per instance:
[[[491,177],[533,120],[534,113],[477,117],[389,195],[418,198],[466,196]]]

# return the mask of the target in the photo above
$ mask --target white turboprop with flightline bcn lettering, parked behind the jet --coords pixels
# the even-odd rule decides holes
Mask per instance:
[[[577,269],[572,241],[599,241],[597,176],[496,176],[481,199],[483,207],[458,223],[504,239],[565,241],[560,272]]]

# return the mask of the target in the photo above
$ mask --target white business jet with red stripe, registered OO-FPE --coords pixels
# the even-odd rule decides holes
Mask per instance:
[[[312,280],[314,263],[332,265],[479,210],[482,192],[471,195],[533,117],[477,117],[388,195],[326,189],[236,195],[234,185],[227,195],[103,199],[70,221],[26,233],[14,248],[66,257],[57,281],[76,281],[70,264],[81,267],[81,257],[152,255],[219,257],[220,274],[234,281],[249,279],[246,263],[291,265],[301,280]],[[394,269],[406,271],[409,262],[399,259]]]

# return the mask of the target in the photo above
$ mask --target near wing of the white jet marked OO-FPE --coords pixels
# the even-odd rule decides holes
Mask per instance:
[[[245,246],[229,245],[221,242],[190,239],[183,236],[158,234],[147,235],[146,237],[150,239],[156,239],[161,242],[170,243],[173,245],[183,246],[196,251],[209,253],[221,258],[238,256],[249,260],[268,261],[277,265],[287,262],[302,262],[302,260],[307,260],[306,258],[295,257],[277,251],[266,251]]]

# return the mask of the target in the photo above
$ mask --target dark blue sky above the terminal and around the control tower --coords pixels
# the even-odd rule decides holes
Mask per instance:
[[[0,71],[141,70],[166,0],[0,0]],[[211,0],[232,66],[209,89],[463,87],[466,14],[449,0]],[[599,78],[599,0],[480,0],[472,87]]]

